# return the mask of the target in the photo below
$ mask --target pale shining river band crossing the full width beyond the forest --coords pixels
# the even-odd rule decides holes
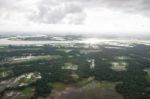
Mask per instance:
[[[44,44],[87,44],[87,45],[114,45],[131,47],[133,44],[150,45],[150,40],[108,40],[108,39],[83,39],[83,40],[63,40],[63,41],[24,41],[24,40],[9,40],[8,38],[0,39],[0,45],[44,45]]]

